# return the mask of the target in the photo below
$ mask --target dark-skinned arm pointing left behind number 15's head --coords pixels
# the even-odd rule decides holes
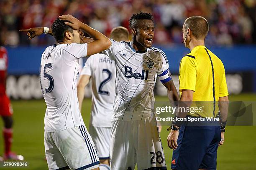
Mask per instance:
[[[29,29],[25,29],[25,30],[20,30],[20,32],[28,32],[27,33],[28,40],[31,40],[32,38],[43,34],[44,27],[29,28]],[[53,36],[53,34],[51,32],[51,28],[49,29],[47,34]],[[94,41],[94,40],[90,37],[83,37],[83,43],[88,43],[88,42],[92,42],[92,41]]]

